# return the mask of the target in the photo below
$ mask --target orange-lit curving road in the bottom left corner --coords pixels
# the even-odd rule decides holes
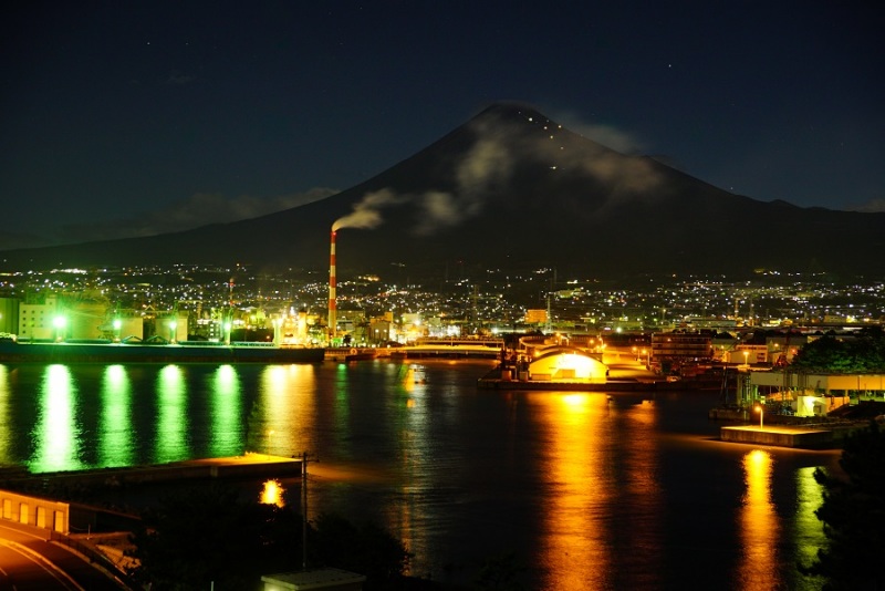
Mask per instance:
[[[48,532],[0,521],[0,591],[119,591],[88,560],[49,541]]]

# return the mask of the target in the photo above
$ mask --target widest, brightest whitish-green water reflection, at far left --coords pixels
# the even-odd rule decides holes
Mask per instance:
[[[40,385],[38,421],[32,432],[34,453],[28,463],[31,471],[82,468],[75,407],[76,387],[71,371],[65,365],[49,365]]]

